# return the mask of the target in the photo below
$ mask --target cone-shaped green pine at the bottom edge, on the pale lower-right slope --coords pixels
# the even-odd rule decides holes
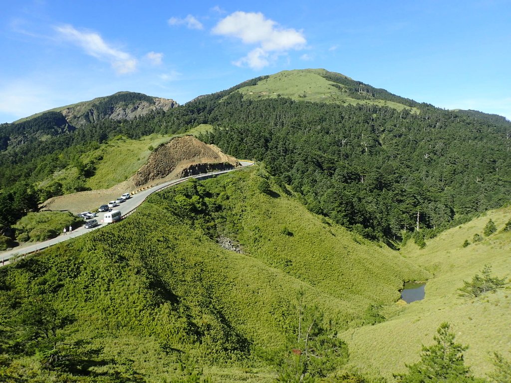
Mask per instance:
[[[394,377],[401,383],[468,383],[479,381],[470,368],[465,366],[463,346],[454,341],[454,332],[450,331],[447,322],[440,324],[433,337],[435,344],[422,347],[421,361],[406,365],[407,374],[396,374]]]

